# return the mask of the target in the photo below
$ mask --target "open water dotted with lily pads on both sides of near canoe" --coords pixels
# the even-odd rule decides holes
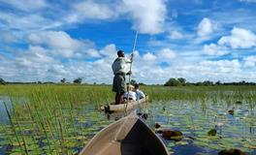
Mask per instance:
[[[3,110],[3,100],[6,99],[1,99],[0,110],[3,115],[1,122],[8,123],[7,113],[5,109]],[[229,114],[228,110],[233,108],[235,108],[234,115]],[[153,102],[140,110],[148,113],[145,123],[152,130],[157,122],[163,129],[179,130],[183,133],[183,139],[180,141],[161,138],[169,151],[175,155],[217,154],[219,150],[226,148],[240,148],[248,154],[256,154],[256,109],[251,108],[248,103],[228,106],[221,103],[187,101]],[[66,109],[63,109],[63,114],[64,117],[69,117]],[[69,137],[66,140],[71,142],[69,149],[76,153],[97,132],[120,117],[120,115],[117,117],[105,115],[96,110],[92,104],[85,108],[74,109],[73,114],[76,116],[74,118],[76,130],[72,130],[73,126],[70,126]],[[32,130],[27,128],[29,135]],[[210,129],[217,130],[215,137],[208,137]],[[0,135],[0,142],[1,140],[3,141],[3,138],[1,139]],[[40,147],[47,146],[45,139],[38,142]],[[0,155],[5,154],[5,149],[6,147],[0,148]]]

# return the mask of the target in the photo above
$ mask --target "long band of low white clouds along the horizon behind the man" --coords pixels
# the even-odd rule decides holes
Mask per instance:
[[[100,49],[105,52],[114,45],[107,45]],[[61,78],[67,78],[72,81],[74,78],[83,78],[84,82],[106,82],[112,83],[112,61],[116,57],[101,57],[94,61],[84,61],[81,59],[66,59],[50,54],[49,49],[44,47],[30,46],[22,54],[14,55],[14,58],[1,56],[0,54],[0,75],[4,75],[7,80],[54,80],[59,81]],[[162,51],[159,52],[159,51]],[[255,76],[248,72],[241,71],[239,60],[199,60],[184,61],[176,53],[176,59],[172,56],[173,50],[162,49],[153,54],[147,52],[140,54],[136,51],[135,62],[133,64],[133,75],[137,81],[145,83],[164,83],[168,78],[187,78],[189,81],[198,80],[254,80]],[[161,54],[160,54],[161,53]],[[164,56],[163,56],[164,55]],[[169,55],[169,56],[168,56]],[[172,65],[161,67],[161,57],[169,57],[174,61]],[[245,61],[254,61],[255,58],[244,59]],[[7,70],[8,66],[8,70]]]

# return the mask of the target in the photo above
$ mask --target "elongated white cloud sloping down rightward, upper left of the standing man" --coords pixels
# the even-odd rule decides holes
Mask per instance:
[[[53,55],[71,58],[84,56],[100,57],[98,50],[90,41],[73,39],[64,31],[42,31],[28,36],[29,44],[47,46]]]

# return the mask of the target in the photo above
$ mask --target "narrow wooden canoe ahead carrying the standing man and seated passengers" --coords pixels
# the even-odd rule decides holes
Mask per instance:
[[[145,103],[148,101],[148,96],[145,96],[144,99],[138,100],[138,101],[128,101],[128,104],[120,104],[120,105],[112,105],[110,104],[109,106],[101,107],[102,110],[105,111],[111,111],[111,112],[120,112],[124,110],[131,110],[137,108],[139,105]]]

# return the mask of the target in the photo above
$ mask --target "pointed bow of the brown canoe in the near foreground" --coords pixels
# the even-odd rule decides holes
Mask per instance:
[[[168,155],[167,148],[135,112],[113,122],[80,155]]]

